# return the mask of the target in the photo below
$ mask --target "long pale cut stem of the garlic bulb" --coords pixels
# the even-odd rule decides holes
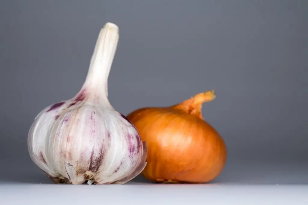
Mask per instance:
[[[99,32],[86,80],[76,96],[85,93],[87,100],[110,105],[107,98],[108,76],[118,41],[118,26],[113,23],[106,23]]]

